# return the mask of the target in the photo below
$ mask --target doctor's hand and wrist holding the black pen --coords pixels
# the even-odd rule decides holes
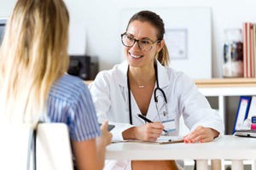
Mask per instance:
[[[163,129],[164,126],[161,122],[150,122],[125,130],[123,132],[123,138],[154,141],[160,137]]]

